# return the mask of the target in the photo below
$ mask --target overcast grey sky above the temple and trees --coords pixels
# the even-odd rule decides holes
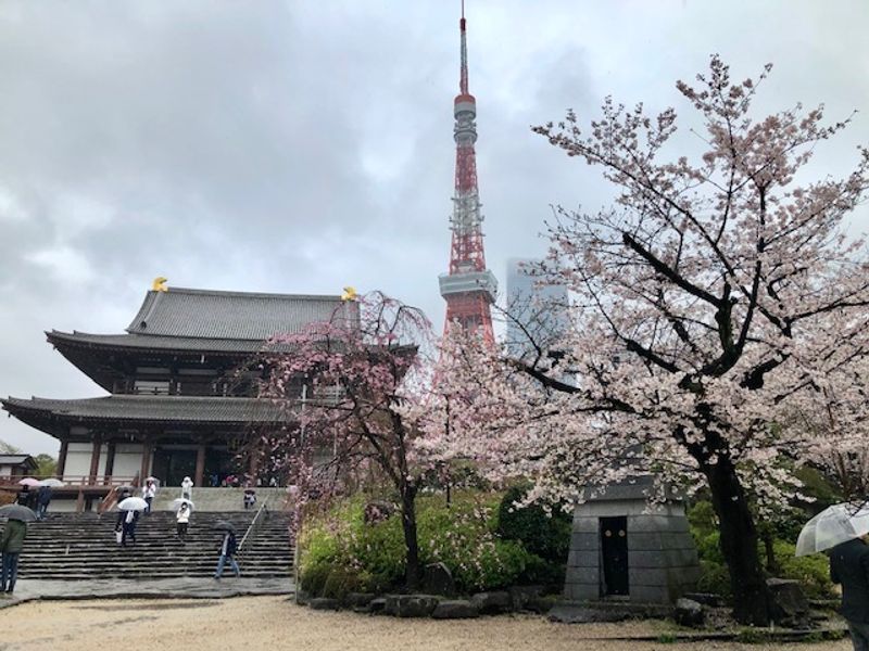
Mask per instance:
[[[539,256],[551,204],[597,173],[530,131],[613,94],[675,105],[718,52],[774,64],[757,105],[860,113],[813,162],[869,144],[866,0],[467,0],[490,269]],[[0,395],[102,391],[43,331],[119,333],[169,286],[443,301],[459,0],[0,2]],[[864,217],[866,212],[862,213]],[[860,230],[864,230],[860,228]],[[503,288],[502,288],[503,289]],[[0,439],[58,443],[14,419]]]

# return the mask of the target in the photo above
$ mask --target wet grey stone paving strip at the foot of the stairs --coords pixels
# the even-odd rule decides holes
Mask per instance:
[[[11,599],[0,597],[0,609],[40,599],[222,599],[251,595],[291,595],[291,578],[181,577],[156,580],[97,579],[48,580],[18,579]]]

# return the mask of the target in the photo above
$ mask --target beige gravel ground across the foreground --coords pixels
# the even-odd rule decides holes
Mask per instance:
[[[673,646],[606,639],[665,630],[660,622],[567,625],[525,615],[452,622],[394,620],[312,611],[286,597],[38,601],[0,611],[0,651],[760,651],[795,647],[713,641]],[[847,651],[851,642],[797,648]]]

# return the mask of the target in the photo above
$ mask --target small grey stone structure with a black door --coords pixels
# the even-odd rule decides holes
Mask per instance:
[[[643,482],[576,508],[565,598],[672,603],[694,589],[697,551],[679,500],[648,505]]]

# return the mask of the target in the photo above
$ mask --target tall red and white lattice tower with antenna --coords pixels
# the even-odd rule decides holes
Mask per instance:
[[[462,73],[453,114],[455,127],[455,196],[450,230],[453,244],[450,252],[450,272],[439,277],[441,296],[446,301],[446,324],[458,321],[464,328],[477,330],[483,340],[494,342],[492,312],[498,292],[494,275],[486,268],[482,246],[482,214],[477,188],[477,100],[468,92],[468,49],[465,30],[465,3],[462,2]]]

